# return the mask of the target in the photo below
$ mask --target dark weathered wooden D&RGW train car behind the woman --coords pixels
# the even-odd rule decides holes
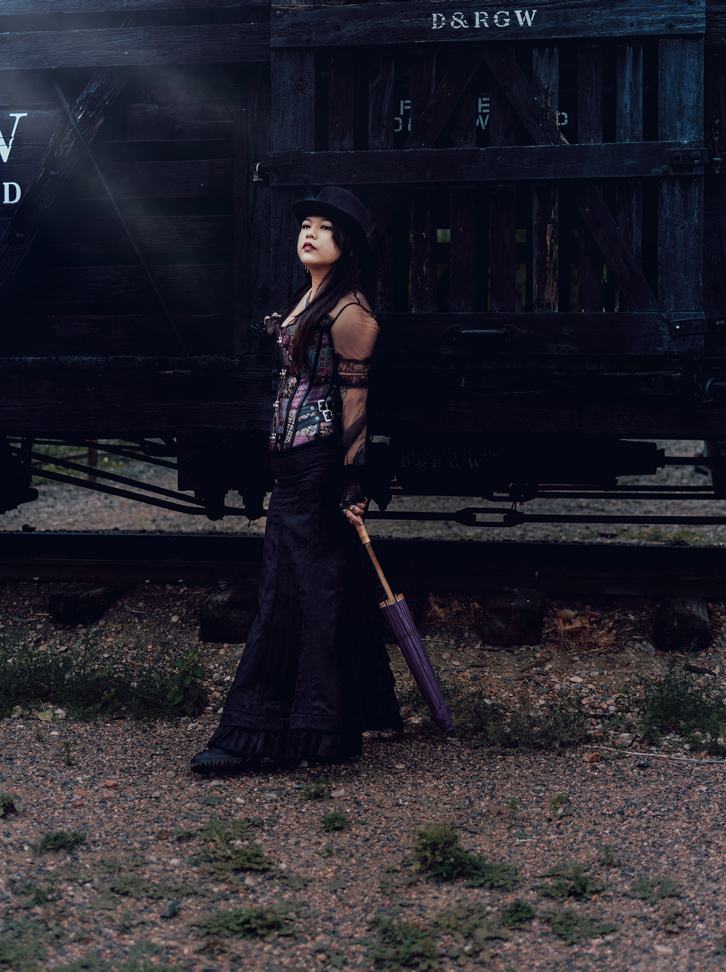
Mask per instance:
[[[656,438],[723,495],[726,7],[505,8],[4,0],[0,511],[34,442],[114,437],[259,510],[259,326],[326,185],[373,221],[381,505],[610,487]]]

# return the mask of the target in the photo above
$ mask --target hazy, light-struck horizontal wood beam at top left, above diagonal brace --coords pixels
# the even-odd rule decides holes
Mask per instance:
[[[267,36],[261,23],[0,34],[0,70],[264,61]]]

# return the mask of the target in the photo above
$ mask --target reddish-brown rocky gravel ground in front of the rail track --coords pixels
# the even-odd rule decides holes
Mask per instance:
[[[87,633],[49,618],[53,589],[4,585],[0,637],[63,657],[88,638],[101,657],[197,647],[208,698],[183,718],[44,721],[26,707],[0,721],[0,968],[726,967],[725,764],[674,734],[640,737],[640,680],[669,662],[650,642],[654,603],[551,602],[541,643],[505,649],[481,642],[475,602],[426,603],[455,715],[479,691],[511,712],[576,703],[579,746],[512,754],[465,730],[429,735],[391,644],[405,732],[368,734],[343,766],[199,776],[190,755],[244,650],[198,643],[211,589],[136,585]],[[713,644],[690,661],[721,696],[724,606],[710,608]],[[475,858],[508,865],[494,886],[419,867],[417,835],[446,824]],[[53,850],[58,831],[70,836]]]

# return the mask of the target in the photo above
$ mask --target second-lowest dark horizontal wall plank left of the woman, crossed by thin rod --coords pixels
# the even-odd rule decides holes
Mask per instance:
[[[202,313],[231,310],[232,267],[222,263],[177,263],[152,267],[158,289],[170,308]],[[140,266],[52,266],[20,290],[25,308],[42,304],[135,304],[155,302]]]

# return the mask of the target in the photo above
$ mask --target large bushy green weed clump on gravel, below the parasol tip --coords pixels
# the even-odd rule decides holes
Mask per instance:
[[[434,823],[420,830],[413,849],[419,868],[439,884],[466,878],[468,887],[504,887],[511,890],[517,869],[511,864],[488,864],[459,844],[459,835],[448,824]]]

